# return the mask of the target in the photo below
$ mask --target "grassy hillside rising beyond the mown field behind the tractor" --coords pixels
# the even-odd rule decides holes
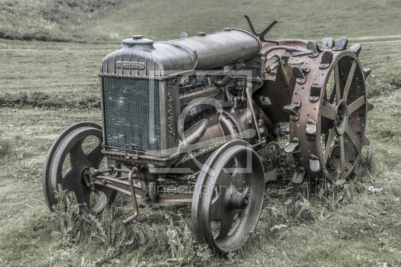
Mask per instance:
[[[401,2],[2,0],[0,38],[79,43],[119,43],[133,34],[154,41],[211,33],[226,27],[249,30],[244,15],[269,39],[334,39],[400,35]],[[380,29],[380,31],[377,31]]]

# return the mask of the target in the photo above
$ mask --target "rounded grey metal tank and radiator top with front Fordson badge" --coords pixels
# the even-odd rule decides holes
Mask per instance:
[[[256,36],[238,29],[155,43],[134,35],[103,59],[99,76],[167,78],[246,60],[261,49]]]

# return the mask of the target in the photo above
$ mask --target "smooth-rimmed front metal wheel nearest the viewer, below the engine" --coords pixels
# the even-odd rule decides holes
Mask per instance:
[[[264,190],[263,165],[251,145],[233,140],[215,151],[199,173],[192,198],[198,241],[222,253],[238,249],[259,220]]]

